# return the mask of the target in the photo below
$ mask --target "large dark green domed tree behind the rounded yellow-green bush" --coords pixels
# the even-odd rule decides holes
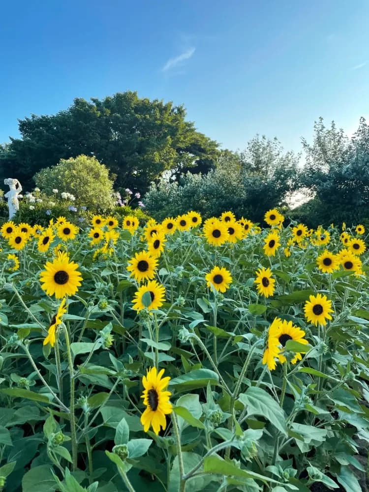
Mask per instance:
[[[183,106],[131,91],[90,102],[76,98],[56,115],[19,120],[21,138],[0,147],[0,177],[14,175],[27,188],[40,169],[85,154],[117,176],[117,187],[144,193],[164,170],[214,167],[217,143],[185,116]]]

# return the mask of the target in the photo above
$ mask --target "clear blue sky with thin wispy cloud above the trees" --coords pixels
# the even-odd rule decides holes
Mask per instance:
[[[314,120],[369,115],[369,2],[1,3],[0,142],[17,118],[125,90],[184,104],[222,147],[254,134],[299,150]]]

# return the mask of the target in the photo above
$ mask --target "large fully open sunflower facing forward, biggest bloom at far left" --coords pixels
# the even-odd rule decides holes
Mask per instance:
[[[82,281],[77,268],[77,263],[69,261],[65,253],[59,253],[53,262],[46,262],[45,270],[40,273],[41,289],[48,296],[55,294],[57,299],[74,295]]]

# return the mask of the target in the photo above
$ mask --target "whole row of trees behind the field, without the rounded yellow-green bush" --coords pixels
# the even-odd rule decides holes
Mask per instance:
[[[139,191],[157,219],[193,209],[206,217],[231,210],[261,221],[275,206],[311,227],[368,219],[364,118],[352,138],[334,122],[326,127],[319,119],[312,142],[303,139],[303,153],[295,154],[285,152],[277,139],[259,135],[243,152],[221,150],[185,117],[183,106],[139,98],[136,92],[91,102],[77,98],[56,115],[19,120],[21,138],[0,145],[1,183],[15,177],[31,190],[40,170],[84,154],[106,166],[115,190]],[[309,200],[286,210],[293,193]]]

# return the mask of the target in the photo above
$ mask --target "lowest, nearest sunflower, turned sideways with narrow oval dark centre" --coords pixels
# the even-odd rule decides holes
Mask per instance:
[[[147,370],[146,376],[142,378],[142,384],[145,389],[141,398],[144,399],[146,409],[141,415],[140,421],[145,432],[152,426],[156,435],[159,433],[160,427],[163,430],[165,429],[165,415],[172,411],[172,405],[169,401],[171,393],[165,391],[170,381],[170,377],[161,379],[163,374],[164,369],[161,369],[159,373],[157,373],[156,368],[151,368]]]

